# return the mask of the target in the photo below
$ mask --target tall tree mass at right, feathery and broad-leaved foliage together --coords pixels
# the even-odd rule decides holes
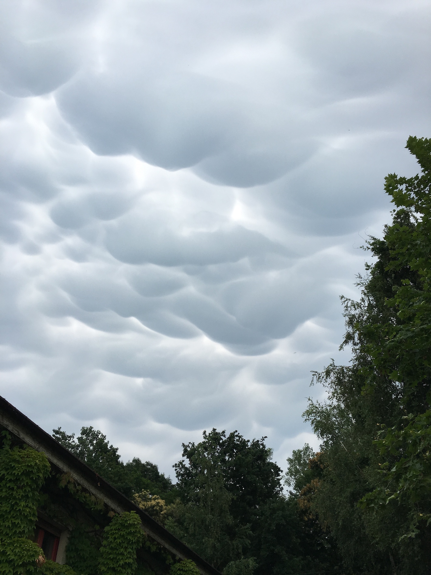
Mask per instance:
[[[407,149],[422,173],[386,178],[392,224],[368,241],[360,300],[342,298],[351,365],[314,374],[328,400],[305,412],[322,440],[312,508],[360,573],[431,569],[431,141]]]

